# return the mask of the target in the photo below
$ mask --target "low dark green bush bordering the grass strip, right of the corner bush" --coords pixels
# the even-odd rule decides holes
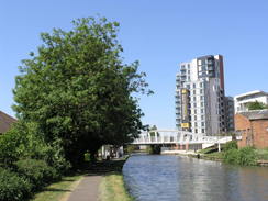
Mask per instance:
[[[56,169],[49,167],[44,160],[21,159],[15,163],[18,174],[29,179],[32,190],[40,190],[42,187],[59,179]]]

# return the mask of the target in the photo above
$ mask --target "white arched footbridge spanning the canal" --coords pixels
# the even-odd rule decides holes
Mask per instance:
[[[232,136],[205,136],[204,134],[196,134],[186,131],[176,130],[154,130],[139,134],[134,139],[134,145],[202,145],[202,148],[225,144],[232,141]]]

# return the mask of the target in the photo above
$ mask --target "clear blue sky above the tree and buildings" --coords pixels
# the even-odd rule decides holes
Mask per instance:
[[[14,115],[18,66],[42,44],[41,32],[97,14],[120,22],[125,63],[138,59],[155,91],[141,99],[144,123],[175,129],[175,76],[198,56],[224,56],[226,94],[268,91],[266,0],[9,0],[0,2],[0,110]]]

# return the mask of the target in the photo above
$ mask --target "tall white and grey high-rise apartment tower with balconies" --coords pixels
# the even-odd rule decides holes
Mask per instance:
[[[175,98],[177,129],[205,135],[226,132],[223,57],[209,55],[181,63]]]

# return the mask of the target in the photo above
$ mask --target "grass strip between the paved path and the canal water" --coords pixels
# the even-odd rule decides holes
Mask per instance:
[[[101,201],[133,201],[125,189],[123,176],[119,172],[104,176],[100,185]]]

